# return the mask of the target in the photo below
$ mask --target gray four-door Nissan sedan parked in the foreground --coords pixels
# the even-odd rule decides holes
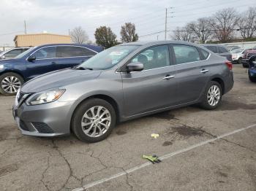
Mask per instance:
[[[111,47],[73,69],[31,79],[13,115],[21,132],[101,141],[117,122],[200,104],[215,109],[233,87],[232,63],[188,42]]]

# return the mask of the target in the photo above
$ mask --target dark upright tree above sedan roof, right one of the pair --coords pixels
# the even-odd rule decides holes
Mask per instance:
[[[138,41],[139,36],[135,33],[135,24],[125,23],[121,26],[121,42],[135,42]]]

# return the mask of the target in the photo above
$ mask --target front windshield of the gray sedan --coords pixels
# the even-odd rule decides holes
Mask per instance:
[[[77,68],[96,70],[110,69],[121,60],[123,60],[131,52],[138,49],[138,47],[138,45],[110,47],[109,49],[99,52],[99,54],[97,55],[94,55],[94,57],[80,64]]]

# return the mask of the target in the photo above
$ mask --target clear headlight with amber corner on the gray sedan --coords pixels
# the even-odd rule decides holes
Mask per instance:
[[[45,92],[36,93],[26,101],[26,104],[33,106],[33,105],[50,103],[59,99],[64,92],[65,92],[64,89],[56,89],[56,90],[48,90]]]

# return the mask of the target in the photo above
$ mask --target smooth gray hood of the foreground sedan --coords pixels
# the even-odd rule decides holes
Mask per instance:
[[[77,82],[95,79],[101,71],[64,69],[52,71],[26,82],[21,91],[23,93],[37,93],[54,87],[63,87],[65,85],[75,84]]]

